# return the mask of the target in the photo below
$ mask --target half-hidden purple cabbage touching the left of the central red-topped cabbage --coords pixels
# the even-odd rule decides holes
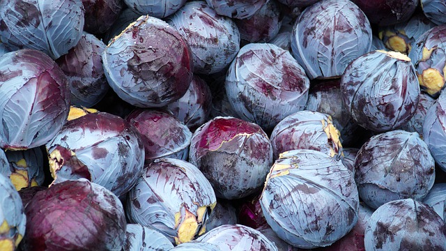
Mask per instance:
[[[187,160],[192,132],[174,115],[137,108],[125,120],[141,135],[146,162],[157,158]]]

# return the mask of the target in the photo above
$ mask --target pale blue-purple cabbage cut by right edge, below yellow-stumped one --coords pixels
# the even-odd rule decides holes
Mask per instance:
[[[443,93],[427,110],[423,123],[423,139],[436,164],[446,172],[446,94]]]

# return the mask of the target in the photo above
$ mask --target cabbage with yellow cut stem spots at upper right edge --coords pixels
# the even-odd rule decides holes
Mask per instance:
[[[438,25],[418,37],[409,58],[415,66],[422,91],[438,98],[445,88],[446,25]]]

